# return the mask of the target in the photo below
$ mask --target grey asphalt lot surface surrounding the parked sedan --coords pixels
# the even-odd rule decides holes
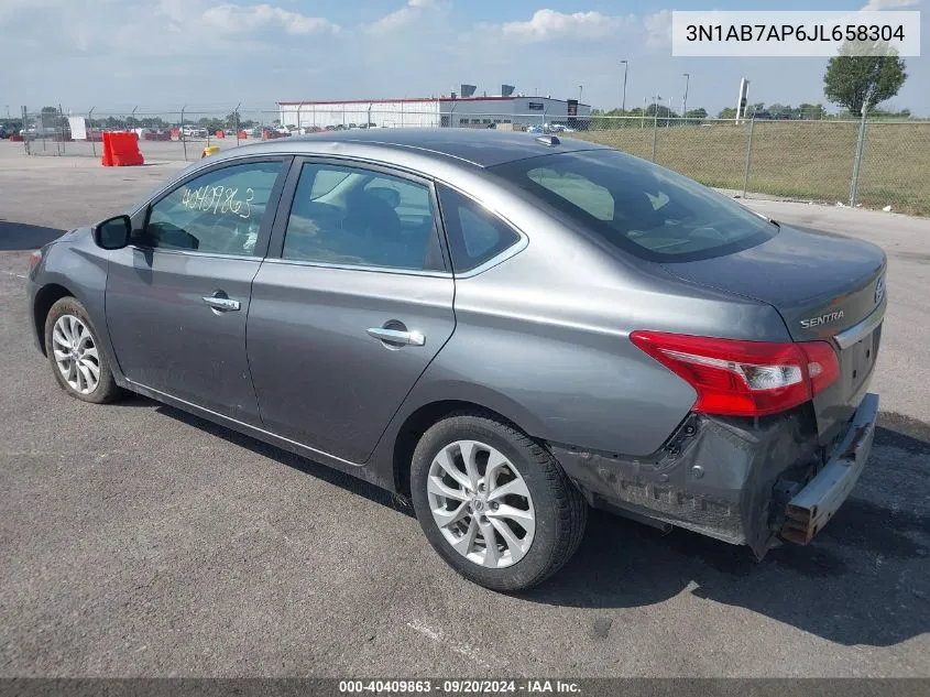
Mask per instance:
[[[26,334],[26,257],[178,163],[0,143],[0,675],[930,676],[930,222],[753,202],[889,255],[853,497],[810,547],[595,514],[522,596],[439,563],[382,492],[144,399],[68,399]]]

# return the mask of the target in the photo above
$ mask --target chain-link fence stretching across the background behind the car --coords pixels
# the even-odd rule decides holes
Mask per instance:
[[[660,107],[661,109],[661,107]],[[744,197],[778,196],[930,215],[930,121],[699,119],[661,111],[550,118],[464,113],[438,104],[129,112],[23,109],[29,154],[100,156],[105,131],[133,130],[147,162],[196,160],[204,149],[375,128],[496,128],[580,138],[652,160]]]

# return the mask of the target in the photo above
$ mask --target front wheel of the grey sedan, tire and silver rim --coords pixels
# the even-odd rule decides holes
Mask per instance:
[[[45,317],[45,352],[58,385],[81,402],[107,404],[120,399],[123,390],[113,379],[110,361],[100,346],[98,336],[84,305],[74,297],[58,300]],[[74,340],[68,344],[70,339]],[[58,362],[62,352],[69,345],[73,350],[68,351],[66,363],[73,367],[68,371],[72,378],[65,375],[64,368],[59,367]],[[77,368],[78,363],[83,369]],[[96,383],[92,381],[94,364],[97,366]]]

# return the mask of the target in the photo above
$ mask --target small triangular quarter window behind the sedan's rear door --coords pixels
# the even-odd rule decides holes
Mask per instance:
[[[475,269],[519,241],[513,228],[472,199],[446,186],[438,188],[455,271]]]

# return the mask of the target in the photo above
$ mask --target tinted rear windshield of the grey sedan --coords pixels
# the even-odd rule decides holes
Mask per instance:
[[[615,150],[529,157],[492,171],[610,244],[654,261],[720,257],[778,231],[726,196]]]

